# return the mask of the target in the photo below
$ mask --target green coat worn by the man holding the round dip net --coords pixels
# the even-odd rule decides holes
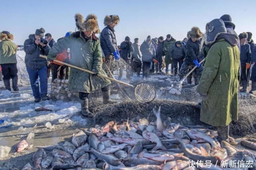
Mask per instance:
[[[77,31],[69,37],[57,41],[50,50],[48,58],[56,59],[58,53],[62,53],[67,48],[70,49],[71,53],[70,64],[107,76],[102,69],[101,46],[95,35],[85,41],[82,32]],[[89,93],[109,84],[111,82],[107,79],[70,68],[68,88],[72,92]]]

